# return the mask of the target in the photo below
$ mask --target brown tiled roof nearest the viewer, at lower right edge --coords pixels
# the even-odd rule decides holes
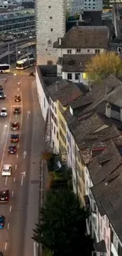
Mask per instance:
[[[91,187],[101,215],[107,215],[116,235],[122,241],[122,165],[102,183]]]

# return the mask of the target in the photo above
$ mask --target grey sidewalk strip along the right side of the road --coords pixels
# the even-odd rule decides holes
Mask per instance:
[[[31,176],[28,188],[28,213],[27,225],[25,227],[24,256],[36,256],[37,244],[31,237],[35,223],[39,222],[39,179],[40,179],[40,158],[43,151],[44,121],[39,106],[36,84],[32,83],[32,95],[34,103],[34,127],[31,147]]]

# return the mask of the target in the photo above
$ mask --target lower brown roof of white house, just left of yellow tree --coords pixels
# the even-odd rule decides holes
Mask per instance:
[[[64,54],[62,72],[83,72],[95,54]]]

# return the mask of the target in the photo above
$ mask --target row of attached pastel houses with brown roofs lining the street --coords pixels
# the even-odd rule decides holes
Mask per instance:
[[[48,68],[45,68],[47,72]],[[39,74],[39,68],[37,72]],[[115,106],[120,107],[122,82],[109,76],[85,95],[76,89],[75,94],[72,82],[57,80],[56,76],[50,81],[46,72],[43,72],[43,83],[40,80],[39,85],[43,87],[41,102],[47,98],[49,109],[52,102],[57,108],[55,113],[59,140],[57,143],[57,134],[52,137],[54,129],[50,127],[50,143],[54,138],[54,143],[59,145],[58,150],[65,148],[63,160],[72,167],[74,192],[79,196],[81,206],[85,206],[91,213],[87,219],[87,232],[94,238],[93,254],[120,256],[122,141],[118,118],[120,109]],[[61,91],[62,84],[65,86]],[[106,115],[108,102],[114,119]],[[115,108],[119,111],[115,111]],[[47,110],[43,109],[44,117],[46,113]]]

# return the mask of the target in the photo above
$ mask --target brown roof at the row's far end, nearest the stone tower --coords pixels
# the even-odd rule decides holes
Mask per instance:
[[[50,98],[53,101],[59,100],[62,106],[69,105],[70,102],[83,95],[76,84],[68,80],[60,80],[57,83],[53,83],[47,87],[47,90]]]

